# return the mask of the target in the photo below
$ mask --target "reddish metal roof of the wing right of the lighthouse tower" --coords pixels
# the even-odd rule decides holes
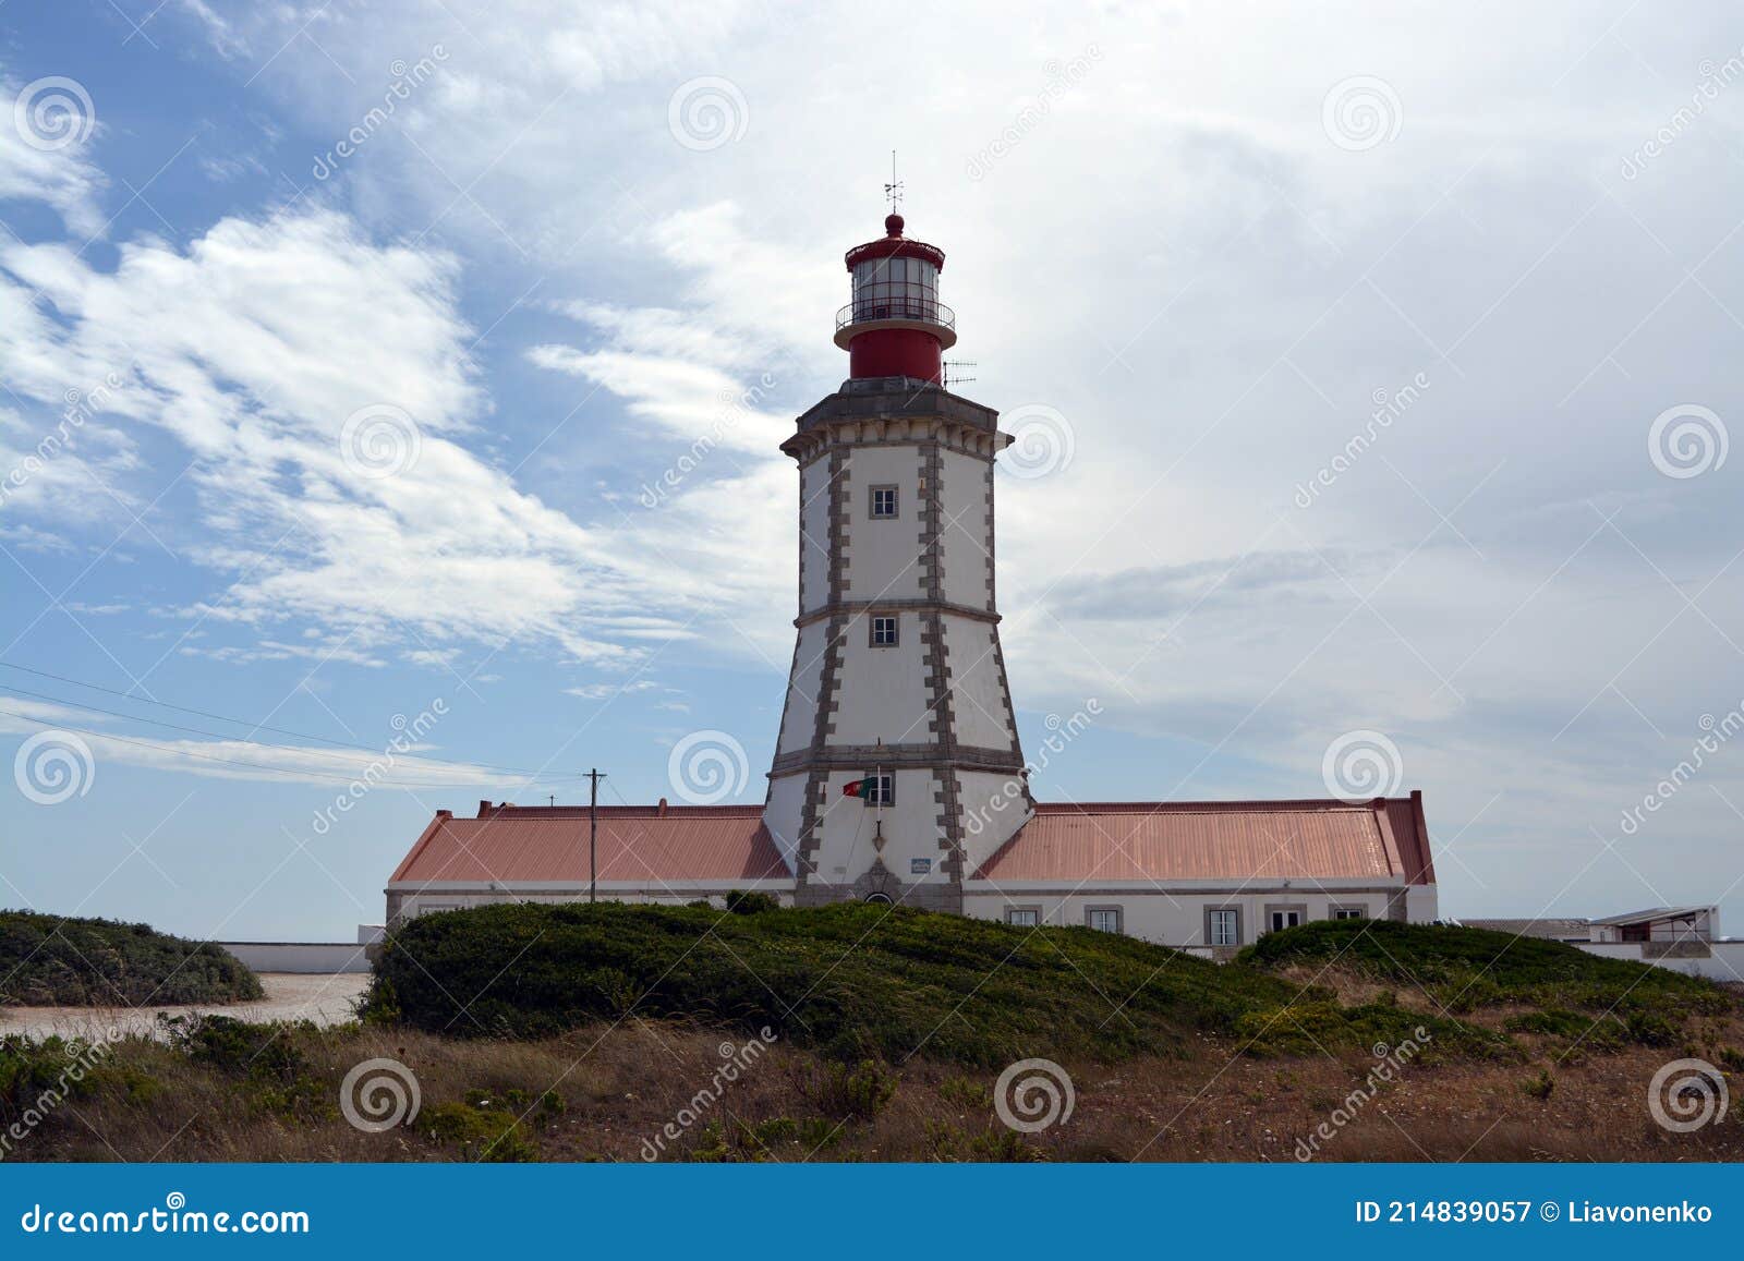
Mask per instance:
[[[971,879],[1435,879],[1421,794],[1341,801],[1046,802]]]

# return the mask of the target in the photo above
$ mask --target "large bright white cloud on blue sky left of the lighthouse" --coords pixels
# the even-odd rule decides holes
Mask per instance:
[[[131,365],[108,408],[185,446],[211,530],[192,555],[237,577],[201,617],[312,619],[356,651],[399,623],[624,661],[619,631],[670,635],[663,610],[722,593],[708,569],[673,581],[603,546],[460,445],[485,401],[445,255],[314,211],[223,220],[187,253],[134,241],[113,272],[61,246],[14,244],[0,267],[17,314],[0,368],[17,391],[51,401]],[[405,473],[371,478],[342,450],[345,419],[371,405],[417,426]]]

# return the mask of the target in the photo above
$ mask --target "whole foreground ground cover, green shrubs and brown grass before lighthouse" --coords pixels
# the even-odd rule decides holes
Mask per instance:
[[[5,1158],[1744,1158],[1744,1005],[1707,982],[1451,928],[1310,924],[1217,966],[1087,928],[736,905],[427,916],[359,1022],[166,1020],[75,1108],[42,1102],[68,1045],[0,1038],[0,1125],[45,1116]],[[1655,1120],[1685,1055],[1732,1076],[1734,1116]],[[1036,1057],[1076,1108],[1020,1134],[1003,1071]],[[349,1121],[364,1067],[420,1108]]]

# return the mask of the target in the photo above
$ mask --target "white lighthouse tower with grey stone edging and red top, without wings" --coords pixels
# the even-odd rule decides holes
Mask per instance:
[[[1034,813],[994,605],[998,413],[944,389],[945,255],[848,251],[848,380],[799,417],[799,630],[764,821],[795,902],[963,909]]]

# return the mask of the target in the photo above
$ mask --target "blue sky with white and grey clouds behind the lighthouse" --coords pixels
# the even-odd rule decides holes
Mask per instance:
[[[438,806],[760,801],[895,148],[1020,726],[1102,710],[1038,795],[1367,769],[1449,914],[1744,931],[1735,5],[5,21],[0,903],[349,938]]]

